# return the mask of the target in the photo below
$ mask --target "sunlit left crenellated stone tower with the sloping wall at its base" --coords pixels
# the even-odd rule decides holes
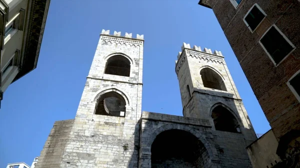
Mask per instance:
[[[143,35],[102,30],[74,120],[57,121],[35,168],[137,168]]]

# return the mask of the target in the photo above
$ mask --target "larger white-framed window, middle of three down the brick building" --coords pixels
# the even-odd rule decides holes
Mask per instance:
[[[278,65],[295,49],[294,45],[275,25],[272,25],[262,35],[259,43],[275,65]]]

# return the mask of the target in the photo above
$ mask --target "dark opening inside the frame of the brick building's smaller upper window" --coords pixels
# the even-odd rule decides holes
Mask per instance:
[[[248,15],[245,17],[245,21],[253,31],[264,17],[265,15],[258,9],[256,5],[254,5]]]

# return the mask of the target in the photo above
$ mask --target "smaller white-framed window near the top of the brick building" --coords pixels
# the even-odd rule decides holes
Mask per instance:
[[[245,15],[244,22],[250,31],[253,32],[265,16],[266,14],[257,5],[257,3],[255,3]]]

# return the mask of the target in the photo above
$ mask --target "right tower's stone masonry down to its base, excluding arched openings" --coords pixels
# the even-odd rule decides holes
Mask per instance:
[[[245,147],[257,138],[224,57],[220,51],[212,53],[207,48],[202,51],[199,46],[190,48],[190,45],[185,43],[183,43],[181,51],[177,56],[176,73],[182,102],[185,103],[183,116],[209,121],[211,130],[208,133],[213,136],[210,143],[217,151],[220,167],[251,168]],[[210,68],[216,72],[222,78],[226,91],[204,87],[200,75],[203,68]],[[192,86],[190,88],[191,97],[186,94],[185,86],[187,84]],[[234,116],[240,126],[241,133],[215,130],[211,112],[214,107],[219,105],[226,108]],[[206,134],[208,133],[206,132]]]

